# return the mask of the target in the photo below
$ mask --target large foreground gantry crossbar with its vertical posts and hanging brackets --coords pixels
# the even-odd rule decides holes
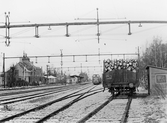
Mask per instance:
[[[9,15],[6,15],[6,20],[9,21]],[[72,25],[97,25],[97,34],[96,36],[98,36],[98,43],[99,43],[99,36],[100,36],[100,32],[99,32],[99,25],[100,24],[128,24],[129,25],[129,33],[128,35],[131,35],[131,27],[130,25],[131,24],[135,24],[135,23],[161,23],[161,24],[166,24],[167,21],[99,21],[99,18],[98,18],[98,9],[97,9],[97,22],[70,22],[70,23],[47,23],[47,24],[22,24],[22,25],[10,25],[9,22],[7,25],[4,25],[4,26],[0,26],[0,28],[6,28],[7,30],[7,34],[5,36],[6,38],[6,45],[9,46],[10,44],[10,40],[11,37],[9,35],[9,32],[10,32],[10,28],[20,28],[20,27],[35,27],[35,36],[36,38],[39,38],[41,36],[39,36],[38,34],[38,27],[42,27],[42,26],[66,26],[66,34],[65,36],[66,37],[69,37],[69,34],[68,34],[68,26],[72,26]]]

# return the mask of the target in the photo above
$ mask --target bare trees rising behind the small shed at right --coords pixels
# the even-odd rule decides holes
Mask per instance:
[[[167,44],[162,43],[160,37],[154,37],[141,56],[140,79],[145,85],[147,85],[146,66],[148,65],[167,68]]]

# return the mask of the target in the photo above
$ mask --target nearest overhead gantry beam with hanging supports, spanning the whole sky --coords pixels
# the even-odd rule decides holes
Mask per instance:
[[[98,9],[97,9],[98,10]],[[81,26],[81,25],[97,25],[97,37],[98,37],[98,43],[99,43],[99,25],[107,25],[107,24],[127,24],[128,25],[128,35],[131,35],[131,24],[167,24],[167,21],[158,21],[158,20],[137,20],[137,21],[100,21],[98,18],[98,12],[97,12],[97,21],[96,22],[65,22],[65,23],[41,23],[41,24],[16,24],[13,25],[9,21],[9,14],[5,14],[5,25],[0,25],[1,28],[6,29],[6,34],[5,34],[5,43],[6,46],[10,45],[10,29],[11,28],[25,28],[25,27],[34,27],[35,28],[35,36],[36,38],[39,38],[39,27],[51,27],[51,26],[65,26],[66,27],[66,37],[69,37],[69,26]]]

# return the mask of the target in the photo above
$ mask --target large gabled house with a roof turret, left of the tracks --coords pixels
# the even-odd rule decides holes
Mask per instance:
[[[36,67],[30,62],[30,58],[26,53],[20,59],[20,62],[15,65],[16,80],[25,80],[29,83],[42,81],[42,68]]]

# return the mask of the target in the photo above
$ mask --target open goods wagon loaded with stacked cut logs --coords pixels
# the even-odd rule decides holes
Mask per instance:
[[[104,60],[103,87],[112,94],[136,91],[139,85],[138,60]]]

